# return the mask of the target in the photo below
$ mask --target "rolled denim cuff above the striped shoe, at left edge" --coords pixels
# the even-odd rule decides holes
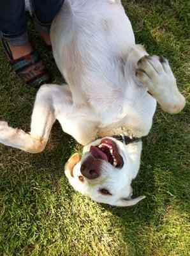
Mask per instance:
[[[29,42],[27,31],[23,31],[22,33],[19,33],[17,35],[7,35],[5,33],[0,33],[0,35],[4,40],[10,42],[11,45],[15,46],[21,46]]]

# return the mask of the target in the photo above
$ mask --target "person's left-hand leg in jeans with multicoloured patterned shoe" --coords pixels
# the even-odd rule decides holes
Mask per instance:
[[[50,79],[29,42],[24,0],[0,1],[0,36],[11,66],[24,83],[38,87]]]

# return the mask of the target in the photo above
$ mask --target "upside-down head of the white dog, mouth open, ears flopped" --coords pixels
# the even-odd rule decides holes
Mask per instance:
[[[116,206],[135,205],[145,196],[131,199],[131,182],[140,167],[142,142],[124,145],[114,138],[96,140],[70,157],[65,173],[71,186],[92,200]]]

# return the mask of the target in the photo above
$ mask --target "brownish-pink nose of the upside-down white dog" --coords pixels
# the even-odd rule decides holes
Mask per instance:
[[[95,163],[96,159],[94,157],[89,156],[85,159],[84,163],[81,164],[80,172],[87,179],[96,179],[99,177],[98,165]]]

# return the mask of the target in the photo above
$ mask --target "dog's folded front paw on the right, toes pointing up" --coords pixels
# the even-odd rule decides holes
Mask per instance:
[[[137,63],[136,77],[164,111],[175,114],[184,108],[184,96],[177,88],[168,60],[162,56],[143,56]]]

